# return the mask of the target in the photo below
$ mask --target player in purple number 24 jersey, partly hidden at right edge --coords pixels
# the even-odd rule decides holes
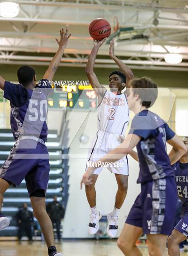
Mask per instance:
[[[182,138],[182,141],[188,149],[188,137]],[[188,238],[188,152],[173,165],[173,168],[178,196],[183,204],[183,217],[168,238],[168,254],[169,256],[179,256],[179,243]]]

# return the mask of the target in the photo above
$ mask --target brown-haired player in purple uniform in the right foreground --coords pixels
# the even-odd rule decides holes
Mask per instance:
[[[137,183],[141,193],[133,204],[117,243],[126,256],[141,256],[136,246],[141,234],[147,234],[150,256],[166,254],[167,236],[175,218],[176,185],[171,163],[177,162],[186,148],[169,126],[150,108],[157,99],[157,85],[148,78],[130,81],[128,106],[135,113],[129,134],[123,143],[97,162],[115,162],[137,146],[140,172]],[[166,141],[172,145],[171,159]],[[86,171],[81,184],[91,184],[94,168]]]

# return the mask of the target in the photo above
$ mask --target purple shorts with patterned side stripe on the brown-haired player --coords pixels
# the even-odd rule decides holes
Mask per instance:
[[[141,184],[125,223],[141,227],[143,234],[171,235],[175,220],[177,189],[174,177]]]

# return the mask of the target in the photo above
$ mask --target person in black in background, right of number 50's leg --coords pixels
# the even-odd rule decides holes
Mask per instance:
[[[57,201],[57,196],[54,196],[54,201],[49,202],[47,204],[47,213],[51,218],[51,222],[53,224],[53,227],[57,230],[57,238],[60,241],[61,235],[60,235],[60,224],[61,221],[64,219],[64,207],[61,205],[60,202]]]

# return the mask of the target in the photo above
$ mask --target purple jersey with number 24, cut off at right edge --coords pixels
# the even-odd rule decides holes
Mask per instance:
[[[188,163],[178,161],[172,167],[175,171],[179,199],[183,203],[184,211],[188,211]]]

